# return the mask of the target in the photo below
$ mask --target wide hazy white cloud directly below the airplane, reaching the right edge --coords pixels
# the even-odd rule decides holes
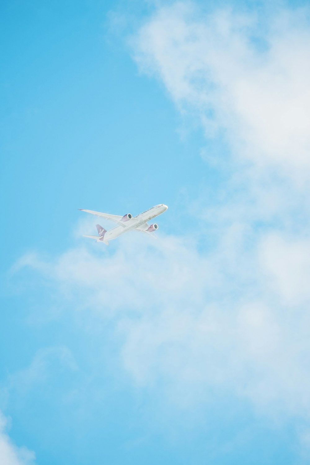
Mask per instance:
[[[308,416],[307,306],[296,319],[279,298],[277,280],[266,286],[269,236],[249,252],[242,241],[234,250],[235,238],[234,229],[227,231],[226,247],[220,241],[202,254],[186,238],[141,243],[128,235],[114,252],[77,247],[38,271],[59,301],[114,320],[120,359],[135,383],[164,382],[181,404],[197,389],[199,401],[207,401],[218,388],[265,412]],[[298,280],[295,286],[298,303]]]

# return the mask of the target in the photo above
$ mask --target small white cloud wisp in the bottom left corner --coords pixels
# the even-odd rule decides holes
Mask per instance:
[[[17,447],[6,433],[7,420],[0,412],[0,463],[1,465],[32,465],[35,454],[26,447]]]

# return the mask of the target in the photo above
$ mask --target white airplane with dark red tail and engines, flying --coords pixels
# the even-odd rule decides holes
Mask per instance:
[[[164,213],[167,210],[167,208],[168,207],[165,204],[155,205],[152,206],[152,208],[149,208],[148,210],[145,210],[145,212],[139,213],[139,215],[134,217],[131,213],[127,213],[124,216],[118,216],[109,215],[108,213],[93,212],[92,210],[84,210],[83,208],[79,208],[81,212],[91,213],[92,215],[96,215],[99,218],[101,217],[109,219],[114,223],[117,223],[117,226],[115,226],[112,229],[109,229],[108,231],[106,231],[106,229],[102,226],[96,225],[99,236],[89,236],[83,234],[83,237],[96,239],[96,242],[102,242],[103,244],[106,244],[106,246],[109,245],[109,240],[116,239],[121,234],[127,233],[128,231],[139,231],[141,233],[150,234],[151,236],[156,237],[154,231],[158,229],[158,225],[156,223],[149,225],[147,222],[150,219],[153,219],[156,216],[160,215],[161,213]]]

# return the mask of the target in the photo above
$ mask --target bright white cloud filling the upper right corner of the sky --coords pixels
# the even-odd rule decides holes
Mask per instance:
[[[179,107],[194,109],[208,137],[220,129],[238,158],[301,182],[310,168],[307,15],[205,14],[179,2],[145,22],[132,40],[134,55]]]

